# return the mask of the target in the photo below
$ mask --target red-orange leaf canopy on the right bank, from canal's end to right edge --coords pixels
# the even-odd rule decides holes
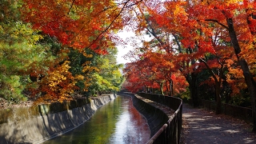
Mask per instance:
[[[143,87],[154,87],[154,82],[158,80],[159,89],[163,79],[173,81],[172,74],[182,74],[190,84],[190,90],[196,88],[193,85],[214,85],[217,96],[213,98],[218,98],[219,93],[230,87],[230,95],[225,97],[244,94],[240,93],[246,90],[244,73],[238,65],[240,59],[246,60],[250,74],[254,81],[256,79],[255,4],[246,0],[140,3],[134,12],[137,18],[133,23],[134,30],[138,35],[150,34],[152,39],[142,41],[143,46],[137,45],[137,53],[127,55],[137,58],[137,61],[126,66],[126,81],[130,82],[126,83],[126,88],[142,90]],[[231,42],[227,23],[230,19],[241,47],[239,54],[238,50],[234,50],[234,41]],[[204,70],[209,73],[202,73]],[[142,75],[142,78],[137,78],[136,74]],[[200,81],[191,77],[198,74],[206,75],[199,78]],[[225,82],[228,84],[223,84]],[[175,84],[178,85],[178,82]],[[169,87],[169,84],[166,86]]]

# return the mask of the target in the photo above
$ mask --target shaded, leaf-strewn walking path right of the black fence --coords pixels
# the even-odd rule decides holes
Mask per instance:
[[[182,144],[256,143],[252,126],[237,118],[183,105]]]

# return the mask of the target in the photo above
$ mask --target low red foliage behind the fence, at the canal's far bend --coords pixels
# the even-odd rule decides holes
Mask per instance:
[[[168,61],[166,54],[148,52],[142,57],[142,60],[126,64],[124,72],[128,82],[125,86],[127,90],[133,92],[146,88],[160,90],[161,84],[165,83],[166,86],[163,86],[162,90],[169,91],[166,87],[170,86],[170,80],[174,83],[174,94],[186,91],[186,78],[175,72],[174,63]]]

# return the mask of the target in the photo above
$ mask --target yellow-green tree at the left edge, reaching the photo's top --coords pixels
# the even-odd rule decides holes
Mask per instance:
[[[42,64],[49,56],[38,43],[42,35],[22,22],[19,1],[1,1],[0,14],[0,95],[10,101],[26,100],[24,90],[31,82],[34,63]]]

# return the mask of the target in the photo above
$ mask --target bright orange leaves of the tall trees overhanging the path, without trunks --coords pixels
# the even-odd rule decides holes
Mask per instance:
[[[217,69],[217,73],[212,73],[216,82],[222,82],[220,77],[226,68],[230,71],[228,82],[230,85],[238,85],[242,79],[242,71],[234,67],[237,58],[234,57],[233,46],[230,46],[229,28],[226,23],[227,18],[233,18],[234,29],[238,36],[239,45],[242,52],[240,58],[245,58],[250,65],[252,74],[255,74],[255,2],[252,1],[204,1],[204,2],[165,2],[165,9],[159,14],[158,11],[150,10],[155,22],[159,27],[172,34],[177,34],[181,40],[182,46],[195,49],[192,54],[178,54],[178,60],[189,66],[191,60],[205,59],[206,55],[214,54],[212,60],[204,62],[211,72]],[[179,11],[180,13],[178,13]],[[195,63],[187,67],[186,74],[192,70],[201,71],[206,68],[202,63]],[[232,69],[231,69],[232,68]],[[231,80],[232,79],[232,80]],[[236,81],[236,82],[234,82]],[[243,86],[233,86],[236,90],[245,88]],[[236,91],[234,90],[234,91]]]

